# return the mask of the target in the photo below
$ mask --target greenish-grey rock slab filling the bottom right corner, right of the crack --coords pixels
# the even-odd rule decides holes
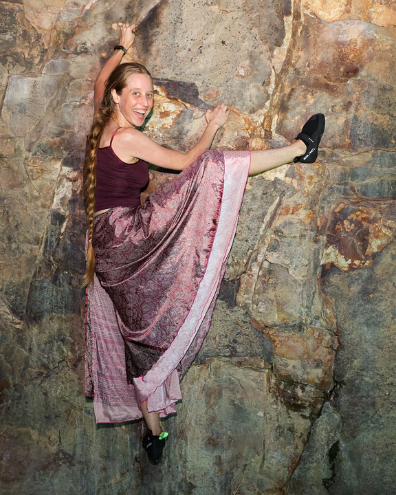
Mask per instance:
[[[323,276],[336,303],[340,349],[336,386],[292,481],[289,495],[394,494],[396,453],[395,243],[370,270]]]

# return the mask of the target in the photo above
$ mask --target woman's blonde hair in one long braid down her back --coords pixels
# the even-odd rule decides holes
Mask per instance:
[[[95,253],[92,247],[94,236],[94,212],[95,212],[95,189],[96,189],[96,151],[99,146],[100,137],[104,127],[108,124],[114,113],[115,103],[111,90],[115,89],[120,94],[126,86],[126,80],[131,74],[151,74],[144,65],[139,63],[124,63],[118,65],[110,74],[106,82],[106,89],[102,98],[101,107],[94,117],[91,133],[88,137],[87,153],[84,161],[84,196],[85,210],[88,221],[88,250],[87,250],[87,271],[83,277],[83,287],[89,285],[94,280]]]

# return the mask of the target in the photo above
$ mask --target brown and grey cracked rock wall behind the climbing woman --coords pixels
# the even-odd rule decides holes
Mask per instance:
[[[85,136],[113,23],[133,19],[160,144],[188,148],[217,102],[222,149],[327,117],[316,164],[248,181],[158,467],[138,424],[96,426],[83,397]],[[393,494],[393,2],[28,0],[1,2],[0,24],[1,491]]]

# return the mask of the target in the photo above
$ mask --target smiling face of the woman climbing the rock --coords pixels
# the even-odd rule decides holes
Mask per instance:
[[[140,127],[153,108],[153,82],[148,74],[131,74],[121,94],[115,89],[111,94],[118,104],[121,125]]]

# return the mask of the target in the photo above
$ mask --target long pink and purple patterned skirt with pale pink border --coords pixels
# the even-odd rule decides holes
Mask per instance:
[[[137,208],[94,220],[85,393],[98,423],[175,412],[208,332],[250,168],[248,151],[203,153]]]

